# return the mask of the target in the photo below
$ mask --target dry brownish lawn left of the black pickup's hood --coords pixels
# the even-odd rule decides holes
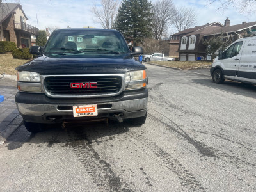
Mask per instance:
[[[22,65],[29,60],[15,59],[12,53],[0,54],[0,74],[5,73],[6,75],[16,75],[15,68]]]

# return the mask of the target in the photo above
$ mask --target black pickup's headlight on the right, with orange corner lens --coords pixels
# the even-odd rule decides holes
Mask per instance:
[[[146,70],[136,70],[125,73],[125,90],[145,88],[147,86]]]

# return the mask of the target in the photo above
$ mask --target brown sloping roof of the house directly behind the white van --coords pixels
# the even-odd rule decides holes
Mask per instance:
[[[256,22],[246,22],[243,24],[237,24],[234,26],[227,26],[220,29],[217,29],[215,31],[211,31],[209,33],[206,33],[204,36],[209,35],[218,35],[221,33],[231,33],[231,32],[237,32],[237,31],[243,31],[244,29],[248,29],[250,27],[256,26]]]

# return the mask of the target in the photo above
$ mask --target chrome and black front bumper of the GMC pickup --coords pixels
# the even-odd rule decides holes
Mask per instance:
[[[44,94],[20,93],[16,105],[26,122],[61,123],[63,120],[92,118],[136,118],[147,113],[148,90],[124,92],[116,97],[86,99],[52,99]],[[97,104],[98,116],[73,117],[72,106]]]

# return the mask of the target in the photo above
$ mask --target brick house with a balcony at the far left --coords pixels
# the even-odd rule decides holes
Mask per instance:
[[[27,23],[28,17],[19,3],[0,3],[0,41],[15,42],[17,47],[31,47],[31,35],[38,29]]]

